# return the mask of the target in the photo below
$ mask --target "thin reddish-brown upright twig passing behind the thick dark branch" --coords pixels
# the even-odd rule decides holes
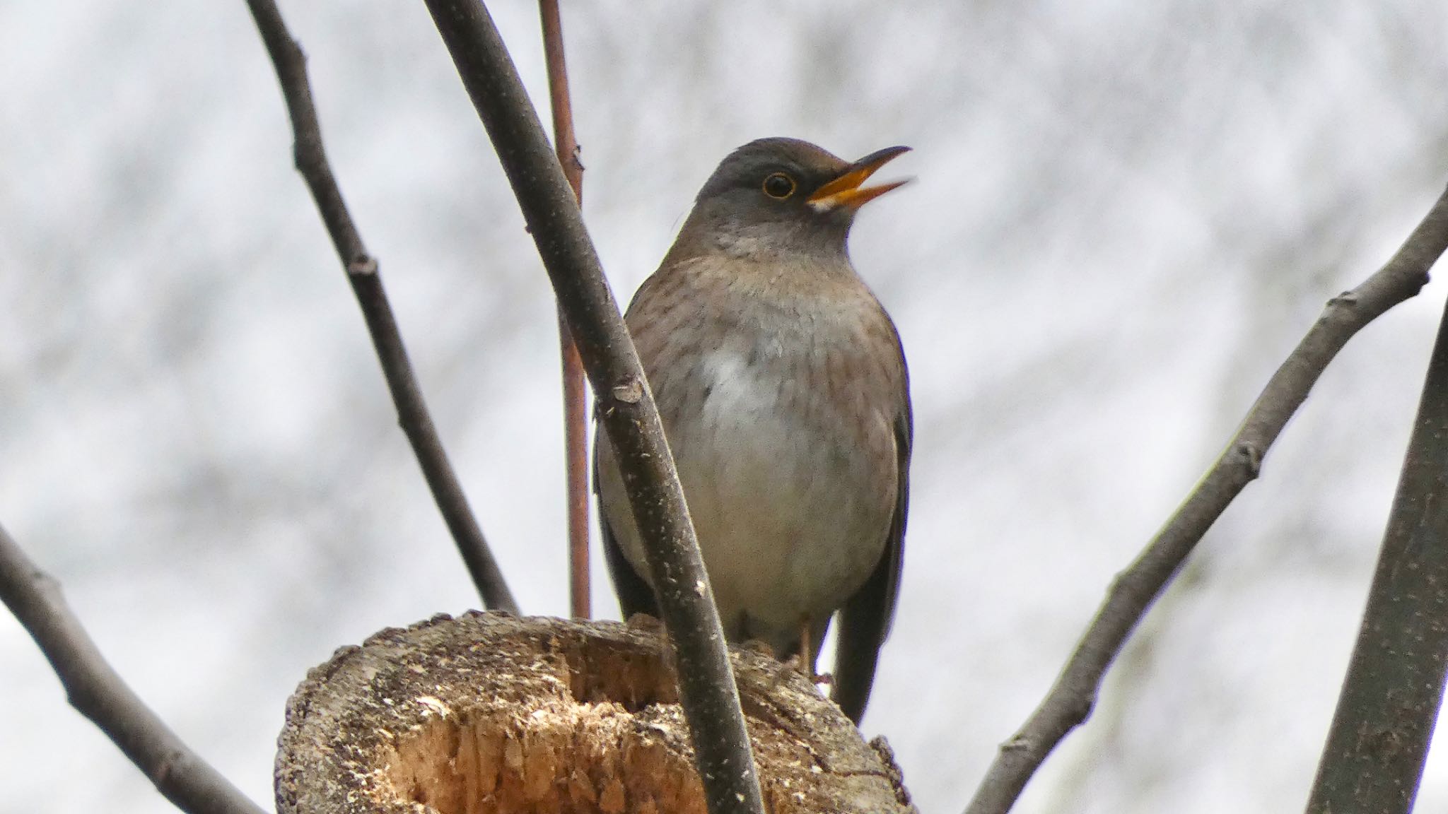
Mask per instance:
[[[539,0],[543,19],[543,54],[547,58],[547,90],[553,109],[553,143],[573,200],[584,204],[584,164],[573,136],[573,104],[568,93],[568,62],[563,59],[563,19],[557,0]],[[588,598],[588,390],[584,359],[578,355],[568,319],[557,311],[559,351],[563,358],[563,449],[568,474],[568,607],[573,618],[592,616]]]

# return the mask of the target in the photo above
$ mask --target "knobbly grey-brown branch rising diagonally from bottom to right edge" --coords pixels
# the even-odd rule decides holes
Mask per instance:
[[[1328,362],[1367,323],[1418,294],[1428,269],[1448,246],[1448,191],[1381,269],[1334,297],[1318,322],[1277,368],[1226,450],[1167,524],[1121,572],[1056,685],[986,772],[967,814],[1003,814],[1066,733],[1086,720],[1102,678],[1147,608],[1228,504],[1261,468],[1263,456],[1308,398]]]

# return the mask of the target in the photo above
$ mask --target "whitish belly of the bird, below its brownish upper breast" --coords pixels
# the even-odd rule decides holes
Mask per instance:
[[[788,366],[727,348],[656,390],[689,514],[731,639],[791,650],[822,629],[885,550],[896,450],[883,406],[782,387]],[[791,381],[795,381],[791,378]],[[863,413],[863,414],[862,414]],[[599,488],[626,558],[647,579],[623,485],[605,452]]]

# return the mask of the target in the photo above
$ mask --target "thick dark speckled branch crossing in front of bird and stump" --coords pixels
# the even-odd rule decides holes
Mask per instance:
[[[763,814],[724,632],[673,456],[568,180],[487,7],[478,0],[427,0],[427,7],[518,198],[618,453],[673,642],[708,810]]]

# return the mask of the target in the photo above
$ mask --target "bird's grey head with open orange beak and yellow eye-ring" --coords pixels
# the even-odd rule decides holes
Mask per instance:
[[[864,187],[909,148],[892,146],[856,162],[799,139],[757,139],[731,152],[699,190],[676,251],[731,255],[844,255],[854,213],[899,187]]]

